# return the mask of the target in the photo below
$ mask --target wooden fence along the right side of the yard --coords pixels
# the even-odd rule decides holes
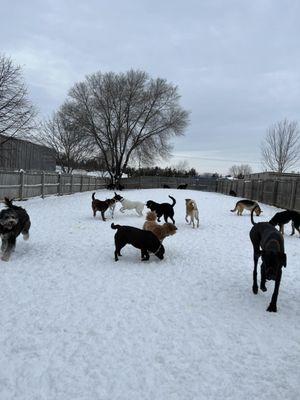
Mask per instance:
[[[217,192],[229,194],[230,190],[239,197],[300,211],[300,178],[218,180]]]

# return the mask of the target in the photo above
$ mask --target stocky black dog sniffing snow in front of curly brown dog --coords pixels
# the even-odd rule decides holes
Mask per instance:
[[[142,261],[149,260],[149,251],[160,260],[164,258],[165,248],[154,233],[133,226],[111,224],[111,227],[118,230],[115,234],[115,261],[118,261],[121,249],[126,244],[141,250]]]

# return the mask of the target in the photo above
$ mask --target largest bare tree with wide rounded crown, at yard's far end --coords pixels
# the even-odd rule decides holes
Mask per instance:
[[[129,161],[154,160],[169,153],[169,139],[182,135],[188,113],[177,87],[142,71],[100,72],[69,93],[74,120],[102,153],[111,179],[118,182]]]

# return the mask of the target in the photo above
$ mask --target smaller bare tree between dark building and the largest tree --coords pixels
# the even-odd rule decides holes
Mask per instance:
[[[42,123],[36,137],[41,144],[54,150],[57,163],[65,173],[72,172],[92,154],[89,139],[80,134],[69,112],[68,106],[63,105],[51,118]]]

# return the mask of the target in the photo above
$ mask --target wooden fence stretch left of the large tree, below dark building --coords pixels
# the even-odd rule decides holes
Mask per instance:
[[[26,199],[48,195],[65,195],[103,189],[105,179],[87,175],[49,172],[0,171],[0,199]]]

